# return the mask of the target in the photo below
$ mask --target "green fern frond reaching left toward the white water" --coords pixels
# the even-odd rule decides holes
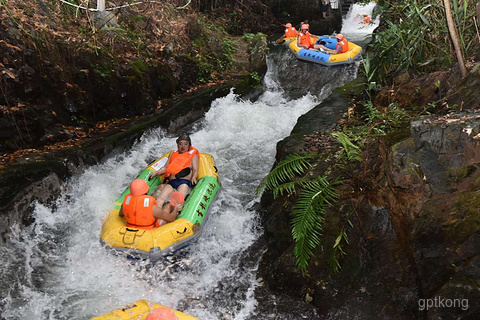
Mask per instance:
[[[280,161],[270,173],[260,182],[256,194],[265,190],[273,190],[280,184],[292,180],[295,175],[301,175],[311,166],[309,159],[315,154],[290,154],[285,160]],[[290,189],[289,189],[290,190]],[[277,194],[278,195],[278,194]]]

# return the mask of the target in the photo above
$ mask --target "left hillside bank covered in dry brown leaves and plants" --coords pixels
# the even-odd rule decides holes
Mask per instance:
[[[168,3],[109,13],[96,29],[95,15],[59,3],[0,7],[1,154],[71,146],[166,99],[254,85],[266,71],[261,34],[231,36]]]

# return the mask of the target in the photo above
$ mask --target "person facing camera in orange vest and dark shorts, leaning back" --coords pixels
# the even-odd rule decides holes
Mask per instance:
[[[158,171],[150,174],[150,178],[165,175],[164,183],[154,194],[161,208],[174,190],[186,197],[198,179],[200,153],[192,147],[190,136],[181,135],[176,142],[178,149],[170,154],[167,163]]]

